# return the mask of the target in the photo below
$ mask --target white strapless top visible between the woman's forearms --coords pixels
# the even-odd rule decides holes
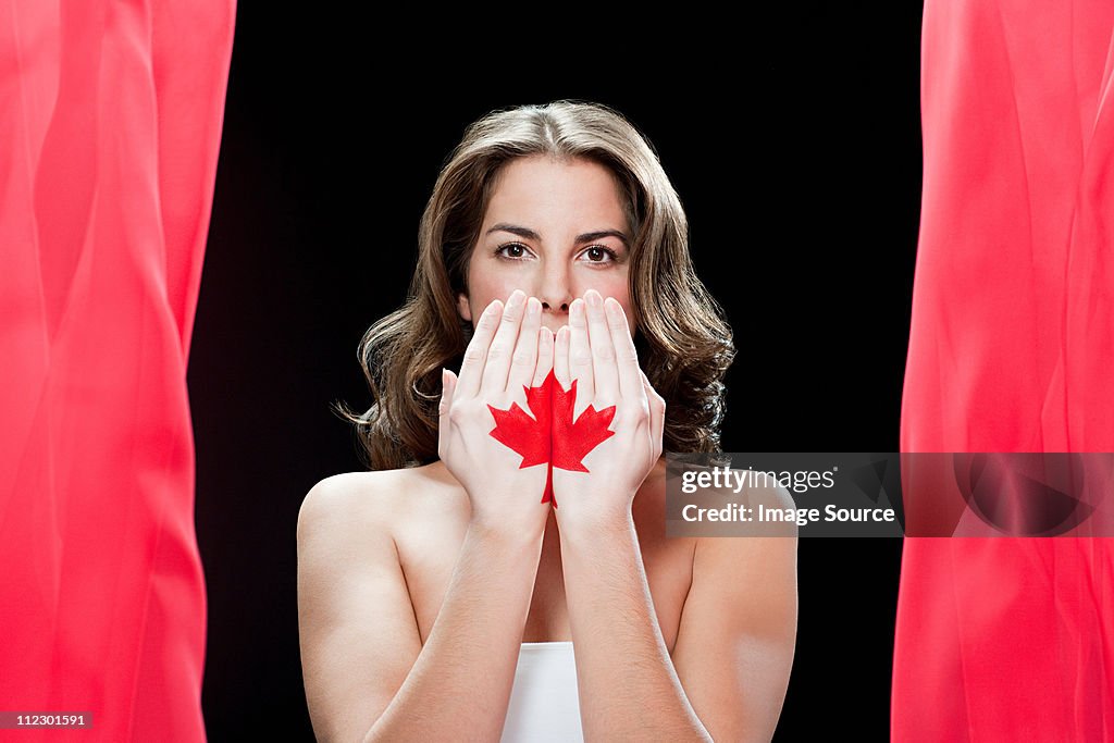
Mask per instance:
[[[573,643],[522,643],[504,743],[584,741]]]

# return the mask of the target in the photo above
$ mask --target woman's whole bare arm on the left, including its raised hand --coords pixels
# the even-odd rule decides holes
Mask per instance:
[[[502,732],[550,511],[540,500],[547,468],[521,468],[519,454],[488,436],[491,405],[527,405],[524,390],[553,368],[541,304],[526,300],[516,291],[506,306],[491,302],[460,377],[442,373],[438,453],[463,486],[470,516],[424,645],[390,530],[390,505],[407,497],[402,478],[377,472],[383,488],[359,497],[330,478],[306,496],[299,607],[320,737],[498,740]],[[360,508],[368,518],[353,518]]]

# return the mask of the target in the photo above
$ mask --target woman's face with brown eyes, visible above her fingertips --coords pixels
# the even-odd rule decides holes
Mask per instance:
[[[468,262],[469,294],[458,309],[468,322],[516,289],[541,301],[541,324],[568,324],[568,305],[595,289],[614,296],[634,334],[627,289],[633,236],[619,186],[592,160],[520,157],[502,167]]]

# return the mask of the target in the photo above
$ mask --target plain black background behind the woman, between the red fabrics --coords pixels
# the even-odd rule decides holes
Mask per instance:
[[[596,100],[654,144],[735,331],[725,450],[898,450],[921,8],[854,4],[709,17],[692,33],[658,18],[659,38],[502,19],[434,39],[418,21],[241,3],[188,375],[212,740],[313,737],[299,507],[317,480],[362,468],[330,403],[370,403],[356,344],[404,296],[446,155],[494,108]],[[900,553],[801,540],[775,740],[818,721],[888,739]]]

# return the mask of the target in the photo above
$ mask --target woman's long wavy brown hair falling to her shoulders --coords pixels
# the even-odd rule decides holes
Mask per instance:
[[[723,375],[735,355],[722,307],[693,272],[681,201],[649,144],[618,113],[561,100],[495,111],[468,127],[441,170],[421,219],[418,267],[401,307],[359,348],[373,404],[338,412],[356,427],[372,469],[438,458],[441,368],[460,369],[471,324],[457,312],[499,169],[530,155],[584,158],[615,175],[635,235],[629,292],[635,346],[666,402],[663,448],[721,452]]]

